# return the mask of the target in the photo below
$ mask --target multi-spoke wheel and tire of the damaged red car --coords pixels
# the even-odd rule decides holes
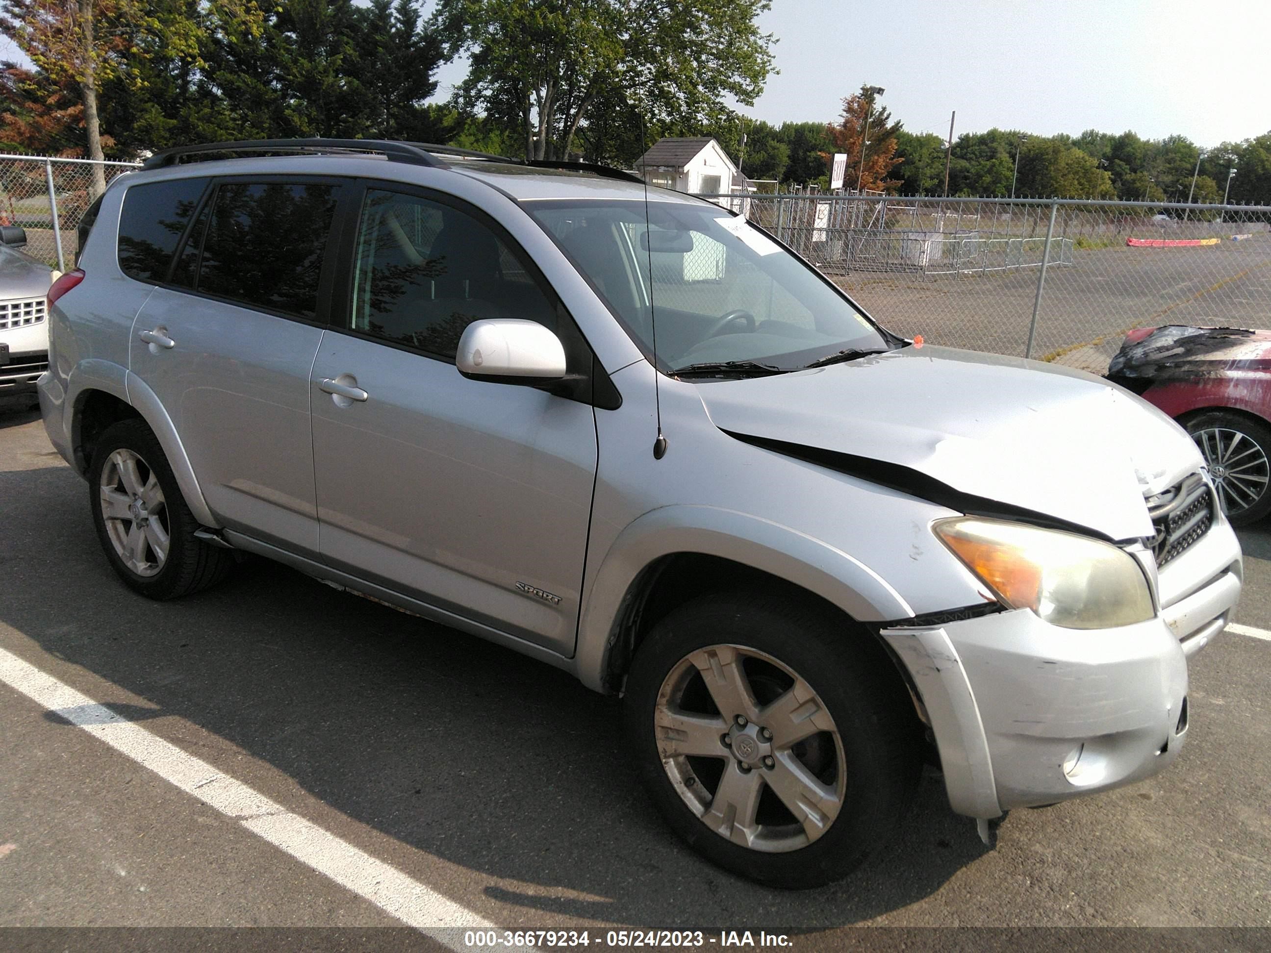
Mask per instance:
[[[1271,429],[1243,414],[1213,410],[1187,422],[1218,501],[1233,526],[1248,526],[1271,512]]]

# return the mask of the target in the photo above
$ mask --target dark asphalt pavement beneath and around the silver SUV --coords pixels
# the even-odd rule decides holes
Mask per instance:
[[[854,925],[1271,926],[1271,640],[1228,633],[1193,659],[1163,775],[1012,812],[991,850],[929,776],[864,870],[784,893],[672,837],[619,704],[566,673],[263,560],[186,601],[133,596],[36,413],[0,408],[0,649],[470,924],[780,929],[806,949]],[[1242,540],[1238,621],[1271,629],[1271,527]],[[322,849],[280,848],[72,722],[0,684],[0,925],[400,925],[338,863],[299,859]]]

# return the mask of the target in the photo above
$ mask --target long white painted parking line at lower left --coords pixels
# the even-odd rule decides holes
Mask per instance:
[[[165,781],[231,817],[300,863],[365,897],[380,910],[454,949],[466,949],[454,928],[489,929],[473,911],[376,860],[330,831],[291,813],[206,761],[125,720],[105,705],[0,648],[0,681],[79,726]],[[445,930],[445,935],[438,935]]]

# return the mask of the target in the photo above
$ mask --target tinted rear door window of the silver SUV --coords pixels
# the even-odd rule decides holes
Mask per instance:
[[[198,290],[314,318],[336,186],[233,182],[216,189]]]

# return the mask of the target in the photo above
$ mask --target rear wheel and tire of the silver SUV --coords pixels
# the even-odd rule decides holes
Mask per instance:
[[[194,536],[198,521],[144,422],[121,421],[102,433],[88,482],[98,540],[133,591],[156,600],[188,596],[220,582],[234,565],[230,550]]]

